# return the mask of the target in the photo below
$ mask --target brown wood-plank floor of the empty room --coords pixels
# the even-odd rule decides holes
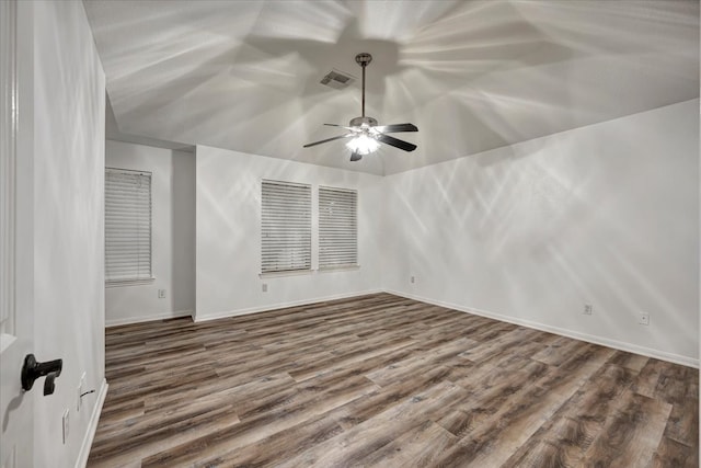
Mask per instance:
[[[698,369],[388,294],[106,332],[90,467],[698,467]]]

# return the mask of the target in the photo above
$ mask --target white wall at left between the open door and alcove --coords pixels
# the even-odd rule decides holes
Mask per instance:
[[[35,467],[60,468],[87,455],[106,389],[105,78],[82,2],[33,7],[34,353],[39,361],[64,359],[55,393],[42,395],[43,380],[31,392],[33,456]],[[96,393],[83,398],[78,413],[83,372],[87,389]],[[65,409],[70,433],[64,445]]]

